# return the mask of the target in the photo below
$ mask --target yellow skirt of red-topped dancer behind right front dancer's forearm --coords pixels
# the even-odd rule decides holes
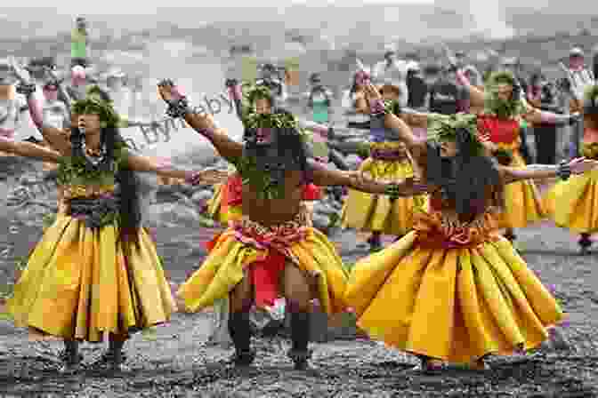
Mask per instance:
[[[519,152],[513,151],[513,162],[509,166],[525,167]],[[500,218],[501,227],[527,227],[545,217],[544,204],[533,181],[525,180],[505,185],[505,211]]]

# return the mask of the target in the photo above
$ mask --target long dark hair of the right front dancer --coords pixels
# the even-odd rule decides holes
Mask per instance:
[[[428,143],[427,151],[427,181],[444,190],[464,221],[486,211],[489,204],[504,206],[497,161],[473,151],[472,139],[470,134],[457,132],[458,153],[452,158],[441,157],[440,146],[434,142]]]

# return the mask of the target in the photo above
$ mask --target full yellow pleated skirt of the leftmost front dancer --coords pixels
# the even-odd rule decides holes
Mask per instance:
[[[103,340],[167,322],[176,310],[156,247],[144,229],[125,257],[117,227],[85,227],[59,214],[7,302],[15,325],[37,337]]]

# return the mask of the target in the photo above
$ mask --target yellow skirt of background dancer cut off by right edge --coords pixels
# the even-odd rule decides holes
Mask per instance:
[[[594,234],[598,231],[598,171],[557,182],[546,193],[544,202],[557,226],[578,234]]]

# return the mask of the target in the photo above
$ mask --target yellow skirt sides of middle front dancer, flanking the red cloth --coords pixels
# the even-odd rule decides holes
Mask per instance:
[[[343,294],[348,273],[334,243],[326,235],[308,227],[307,236],[289,246],[286,254],[304,272],[319,275],[318,299],[323,311],[338,314],[345,310]],[[235,231],[228,229],[220,235],[201,267],[180,286],[177,297],[184,303],[187,312],[198,312],[212,306],[216,299],[227,297],[241,282],[247,267],[267,256],[268,250],[258,250],[239,242]]]

